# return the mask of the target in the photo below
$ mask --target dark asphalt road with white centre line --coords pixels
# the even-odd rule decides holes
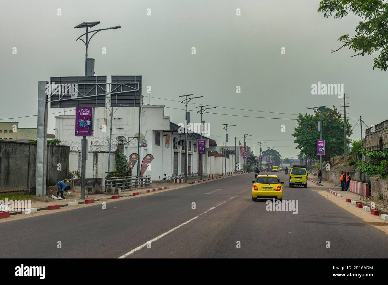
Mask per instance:
[[[263,174],[263,173],[261,173]],[[388,237],[308,188],[288,187],[298,214],[253,202],[253,173],[1,223],[7,258],[386,258]],[[195,209],[192,209],[192,203]],[[61,241],[62,248],[57,248]],[[147,242],[151,241],[147,245]],[[326,248],[326,242],[330,248]],[[237,248],[237,244],[240,245]]]

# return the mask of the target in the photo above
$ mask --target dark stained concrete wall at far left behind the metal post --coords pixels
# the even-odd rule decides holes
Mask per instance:
[[[47,146],[47,185],[55,185],[67,177],[69,152],[68,146]],[[0,178],[2,193],[26,191],[35,194],[36,144],[0,141]]]

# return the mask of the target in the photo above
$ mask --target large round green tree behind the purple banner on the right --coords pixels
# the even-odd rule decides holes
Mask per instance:
[[[317,155],[317,140],[320,139],[320,134],[317,131],[318,121],[320,120],[320,112],[314,110],[314,114],[299,114],[296,128],[292,134],[295,137],[294,143],[300,149],[298,158],[305,159],[305,155],[312,161],[319,160]],[[350,130],[351,124],[346,120],[346,142],[352,135]],[[325,163],[330,163],[330,158],[334,155],[343,154],[343,120],[341,114],[333,106],[333,109],[322,108],[322,140],[325,140],[325,155],[322,155],[322,160]]]

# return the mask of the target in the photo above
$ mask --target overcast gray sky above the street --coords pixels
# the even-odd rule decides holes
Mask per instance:
[[[85,31],[74,26],[100,21],[96,28],[121,25],[121,29],[101,31],[90,42],[88,54],[96,60],[96,75],[142,75],[145,97],[145,86],[151,86],[152,97],[178,100],[179,95],[194,93],[204,96],[195,102],[205,105],[289,114],[319,105],[340,109],[336,95],[311,95],[311,85],[320,81],[344,84],[350,94],[350,117],[362,116],[368,125],[384,121],[388,74],[372,70],[377,54],[350,57],[353,52],[347,49],[331,53],[340,46],[341,35],[353,35],[359,18],[327,19],[318,7],[318,0],[3,0],[0,119],[36,114],[39,80],[82,76],[85,46],[75,40]],[[236,9],[241,9],[241,16],[236,16]],[[286,54],[281,54],[282,47]],[[236,93],[236,86],[241,86],[241,93]],[[148,104],[148,98],[144,102]],[[183,107],[156,98],[151,104]],[[63,109],[49,113],[59,111]],[[296,121],[285,119],[295,115],[220,107],[212,112],[229,114],[204,116],[218,145],[224,141],[222,124],[232,123],[237,127],[229,129],[229,145],[235,136],[238,143],[241,134],[248,133],[250,147],[267,141],[263,147],[274,146],[282,157],[296,157],[299,152],[291,136]],[[166,108],[165,115],[179,123],[184,111]],[[49,116],[52,133],[54,116]],[[199,121],[199,115],[192,113],[191,120]],[[36,127],[36,117],[15,121],[20,127]],[[360,138],[359,127],[351,138]]]

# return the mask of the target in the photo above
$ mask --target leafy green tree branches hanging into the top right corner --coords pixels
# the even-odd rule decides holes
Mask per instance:
[[[352,56],[371,55],[380,52],[374,58],[373,69],[387,70],[388,61],[388,3],[386,0],[323,0],[318,12],[324,17],[334,14],[334,18],[343,18],[349,12],[361,19],[355,28],[355,35],[342,35],[338,39],[342,45],[332,52],[348,47],[355,52]]]

